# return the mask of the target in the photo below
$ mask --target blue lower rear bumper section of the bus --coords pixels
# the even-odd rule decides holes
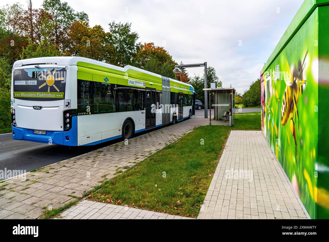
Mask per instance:
[[[26,140],[39,143],[51,143],[58,145],[78,145],[78,121],[77,116],[72,117],[72,128],[69,131],[46,131],[44,134],[34,134],[32,129],[25,129],[12,126],[13,139]],[[66,140],[69,137],[69,140]]]

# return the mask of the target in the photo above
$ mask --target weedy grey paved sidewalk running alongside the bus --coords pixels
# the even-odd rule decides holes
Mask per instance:
[[[79,157],[30,172],[26,180],[12,178],[0,183],[0,219],[38,218],[44,209],[57,208],[82,197],[104,179],[115,177],[194,127],[209,120],[193,117]],[[215,123],[214,123],[215,124]],[[219,124],[219,123],[217,123]]]

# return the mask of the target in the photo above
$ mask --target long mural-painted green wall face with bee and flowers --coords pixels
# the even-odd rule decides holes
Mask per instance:
[[[288,38],[289,42],[263,69],[262,127],[309,215],[317,218],[318,9],[291,33],[293,36]],[[275,77],[277,65],[280,69],[278,80]],[[270,78],[266,78],[268,73]],[[269,105],[266,102],[266,82],[269,82]]]

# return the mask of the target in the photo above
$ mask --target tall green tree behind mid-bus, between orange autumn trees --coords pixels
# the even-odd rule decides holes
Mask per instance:
[[[115,48],[115,62],[118,66],[133,65],[136,61],[140,43],[137,42],[139,35],[131,31],[131,23],[109,23],[110,45]]]

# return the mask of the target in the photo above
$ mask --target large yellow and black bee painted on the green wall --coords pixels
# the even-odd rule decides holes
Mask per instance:
[[[299,115],[297,103],[299,100],[299,96],[303,94],[303,85],[306,85],[306,80],[303,79],[303,69],[305,67],[305,59],[307,53],[308,51],[305,54],[303,62],[301,62],[301,60],[298,61],[297,68],[295,66],[291,68],[290,80],[288,80],[288,85],[286,87],[281,106],[281,125],[290,125],[290,131],[295,141],[296,159],[297,137],[294,116],[296,114],[299,130]]]

